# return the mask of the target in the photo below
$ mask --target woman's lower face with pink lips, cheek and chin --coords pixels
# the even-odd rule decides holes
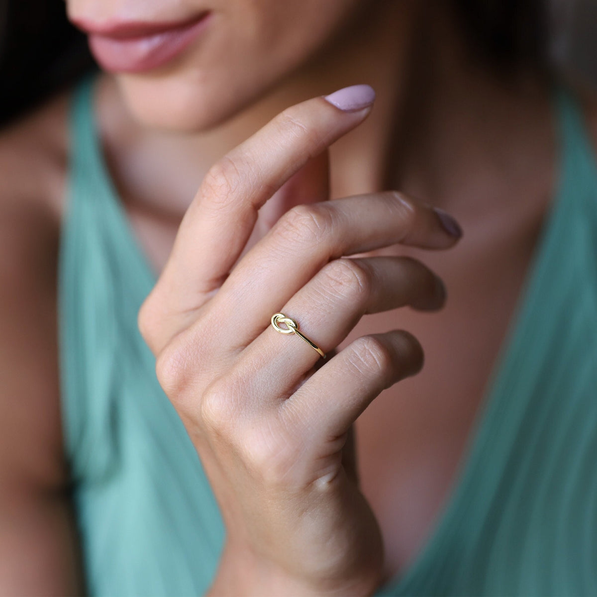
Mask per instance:
[[[207,16],[199,1],[67,0],[71,20],[90,35],[97,62],[144,127],[195,133],[233,118],[312,60],[369,0],[222,0]],[[181,24],[178,38],[164,38],[176,27],[151,33],[144,24],[140,36],[139,23],[122,16],[125,2],[137,21],[154,26],[177,21],[165,15],[179,7],[181,22],[198,17],[196,37],[177,50],[176,40],[194,24]]]

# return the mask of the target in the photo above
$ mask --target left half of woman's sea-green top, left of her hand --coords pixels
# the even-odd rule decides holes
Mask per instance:
[[[93,73],[70,96],[59,253],[64,448],[88,595],[203,595],[224,525],[137,315],[155,279],[109,176]]]

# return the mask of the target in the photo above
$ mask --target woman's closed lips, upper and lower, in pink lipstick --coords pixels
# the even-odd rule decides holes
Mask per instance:
[[[94,23],[73,19],[89,34],[89,47],[100,66],[110,72],[155,69],[178,56],[205,29],[210,12],[176,22],[112,21]]]

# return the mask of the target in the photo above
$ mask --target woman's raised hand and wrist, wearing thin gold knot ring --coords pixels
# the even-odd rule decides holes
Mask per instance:
[[[219,595],[365,595],[380,580],[380,532],[343,449],[359,414],[417,373],[423,353],[397,330],[330,353],[365,313],[435,309],[444,292],[416,260],[346,256],[399,242],[448,248],[458,234],[399,193],[351,196],[292,208],[236,263],[261,205],[369,110],[308,100],[221,159],[140,310],[226,524]],[[273,330],[276,312],[327,360]]]

